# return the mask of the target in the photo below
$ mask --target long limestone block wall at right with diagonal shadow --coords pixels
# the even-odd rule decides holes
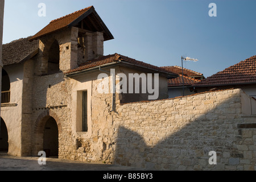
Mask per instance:
[[[254,125],[238,129],[238,124],[255,123],[255,117],[243,117],[241,92],[119,106],[113,116],[112,162],[159,170],[255,169]],[[210,151],[217,152],[216,165],[208,163]]]

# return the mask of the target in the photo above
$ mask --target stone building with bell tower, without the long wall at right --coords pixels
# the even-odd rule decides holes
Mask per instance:
[[[51,156],[77,159],[77,150],[86,145],[98,153],[91,160],[100,160],[102,147],[113,142],[104,135],[109,135],[105,125],[110,126],[115,105],[148,100],[152,95],[100,94],[102,73],[114,70],[116,84],[121,73],[127,77],[157,73],[155,99],[168,98],[167,78],[176,75],[118,53],[104,56],[104,42],[111,39],[113,35],[91,6],[52,20],[34,36],[3,45],[1,118],[6,127],[2,126],[2,149],[16,156],[36,156],[45,150]],[[106,77],[111,83],[113,76]],[[135,91],[138,85],[123,84],[127,89],[133,86]]]

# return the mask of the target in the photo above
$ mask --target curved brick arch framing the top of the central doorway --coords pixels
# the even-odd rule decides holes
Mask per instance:
[[[43,134],[44,133],[44,125],[46,125],[46,122],[50,117],[55,119],[57,126],[58,126],[59,134],[62,133],[61,122],[60,122],[60,119],[57,116],[57,114],[51,110],[46,110],[39,115],[38,119],[36,119],[35,129],[34,129],[35,134]]]

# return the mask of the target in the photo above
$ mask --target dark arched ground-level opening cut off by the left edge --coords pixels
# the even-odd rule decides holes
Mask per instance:
[[[0,122],[0,152],[8,152],[8,131],[5,121],[1,118]]]

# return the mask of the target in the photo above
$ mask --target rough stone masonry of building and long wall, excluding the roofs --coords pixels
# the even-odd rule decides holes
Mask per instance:
[[[9,129],[10,155],[38,156],[46,149],[46,123],[55,121],[60,159],[154,170],[256,169],[255,115],[246,114],[249,96],[241,89],[123,104],[134,96],[115,93],[113,100],[111,93],[97,92],[100,71],[65,75],[81,64],[78,57],[91,59],[103,53],[100,32],[83,34],[80,42],[79,31],[71,27],[42,36],[34,57],[5,66],[11,97],[1,117]],[[82,50],[86,44],[92,48],[89,52]],[[49,67],[58,56],[57,67]],[[123,66],[114,69],[117,74],[138,72]],[[167,78],[159,80],[160,95],[167,98]],[[88,131],[81,130],[85,90]],[[208,162],[210,151],[217,153],[216,165]]]

